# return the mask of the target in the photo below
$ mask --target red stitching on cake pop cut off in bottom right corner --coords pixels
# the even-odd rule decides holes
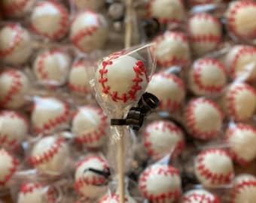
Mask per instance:
[[[248,187],[255,187],[256,180],[242,180],[240,183],[236,183],[233,187],[233,191],[231,193],[231,201],[230,203],[236,203],[236,195],[239,195],[242,192],[242,189],[248,189]]]

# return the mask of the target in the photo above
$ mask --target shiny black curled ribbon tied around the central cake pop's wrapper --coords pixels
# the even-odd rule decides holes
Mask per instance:
[[[145,117],[151,114],[151,111],[158,105],[159,99],[155,95],[145,92],[139,99],[137,107],[130,108],[126,119],[111,119],[111,126],[130,126],[134,130],[139,130]]]

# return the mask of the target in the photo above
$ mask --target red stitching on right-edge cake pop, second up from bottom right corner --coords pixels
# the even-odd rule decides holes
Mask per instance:
[[[235,126],[231,126],[229,129],[227,129],[225,140],[229,143],[230,138],[233,136],[233,133],[236,131],[251,131],[256,135],[256,128],[254,126],[249,126],[244,123],[236,123]],[[249,165],[250,162],[246,161],[242,157],[239,156],[236,152],[234,152],[232,149],[229,149],[230,156],[236,160],[236,162],[239,162],[241,165]]]

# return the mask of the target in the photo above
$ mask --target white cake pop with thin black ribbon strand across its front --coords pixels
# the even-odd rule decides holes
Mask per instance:
[[[87,156],[78,162],[75,171],[75,190],[87,198],[94,199],[107,192],[107,177],[90,171],[108,171],[108,162],[101,156]]]

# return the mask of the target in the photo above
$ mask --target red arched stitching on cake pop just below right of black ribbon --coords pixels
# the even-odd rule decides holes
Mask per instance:
[[[161,129],[160,129],[160,126]],[[178,155],[178,153],[181,152],[181,150],[184,149],[184,139],[182,137],[183,132],[181,131],[181,129],[178,128],[178,126],[176,126],[174,123],[169,122],[169,121],[156,121],[154,123],[149,124],[146,129],[145,132],[143,133],[143,139],[144,139],[144,146],[146,147],[146,149],[148,150],[148,154],[150,156],[154,156],[156,158],[160,158],[161,154],[157,153],[154,150],[154,147],[152,146],[152,142],[149,140],[149,136],[151,135],[152,130],[160,130],[162,132],[165,131],[165,129],[169,129],[169,132],[175,132],[176,135],[178,135],[178,137],[180,138],[180,141],[178,141],[178,143],[176,144],[176,146],[174,147],[174,149],[170,150],[170,153],[172,153],[172,156],[176,156]]]

